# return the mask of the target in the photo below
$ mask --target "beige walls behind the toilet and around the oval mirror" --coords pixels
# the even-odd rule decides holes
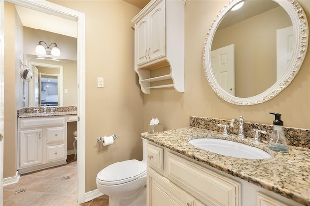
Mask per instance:
[[[236,106],[210,88],[202,67],[203,45],[209,26],[227,1],[186,1],[185,92],[164,88],[149,95],[140,92],[133,69],[130,20],[140,9],[118,0],[53,2],[86,17],[86,192],[96,189],[96,175],[105,166],[142,158],[140,133],[147,131],[152,117],[168,130],[189,126],[191,115],[224,119],[243,115],[247,122],[271,124],[269,112],[274,111],[283,114],[285,126],[310,128],[309,52],[294,81],[268,102]],[[310,18],[310,1],[299,2]],[[97,77],[105,78],[104,88],[96,87]],[[98,145],[96,138],[107,134],[119,139],[109,147]]]

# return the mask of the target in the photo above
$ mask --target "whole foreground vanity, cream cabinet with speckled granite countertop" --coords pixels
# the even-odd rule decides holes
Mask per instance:
[[[188,143],[238,141],[221,132],[189,127],[142,137],[148,140],[147,205],[310,205],[309,149],[290,146],[289,153],[278,153],[259,143],[271,158],[241,159]],[[250,139],[242,143],[252,145]]]

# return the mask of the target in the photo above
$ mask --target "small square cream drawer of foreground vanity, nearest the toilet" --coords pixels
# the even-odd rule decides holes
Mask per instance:
[[[164,149],[156,147],[152,144],[147,144],[146,149],[147,163],[154,169],[164,169]]]

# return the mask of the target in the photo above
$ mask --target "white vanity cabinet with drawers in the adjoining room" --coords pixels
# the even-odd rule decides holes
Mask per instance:
[[[67,123],[76,111],[18,116],[17,169],[20,174],[58,166],[67,159]]]

